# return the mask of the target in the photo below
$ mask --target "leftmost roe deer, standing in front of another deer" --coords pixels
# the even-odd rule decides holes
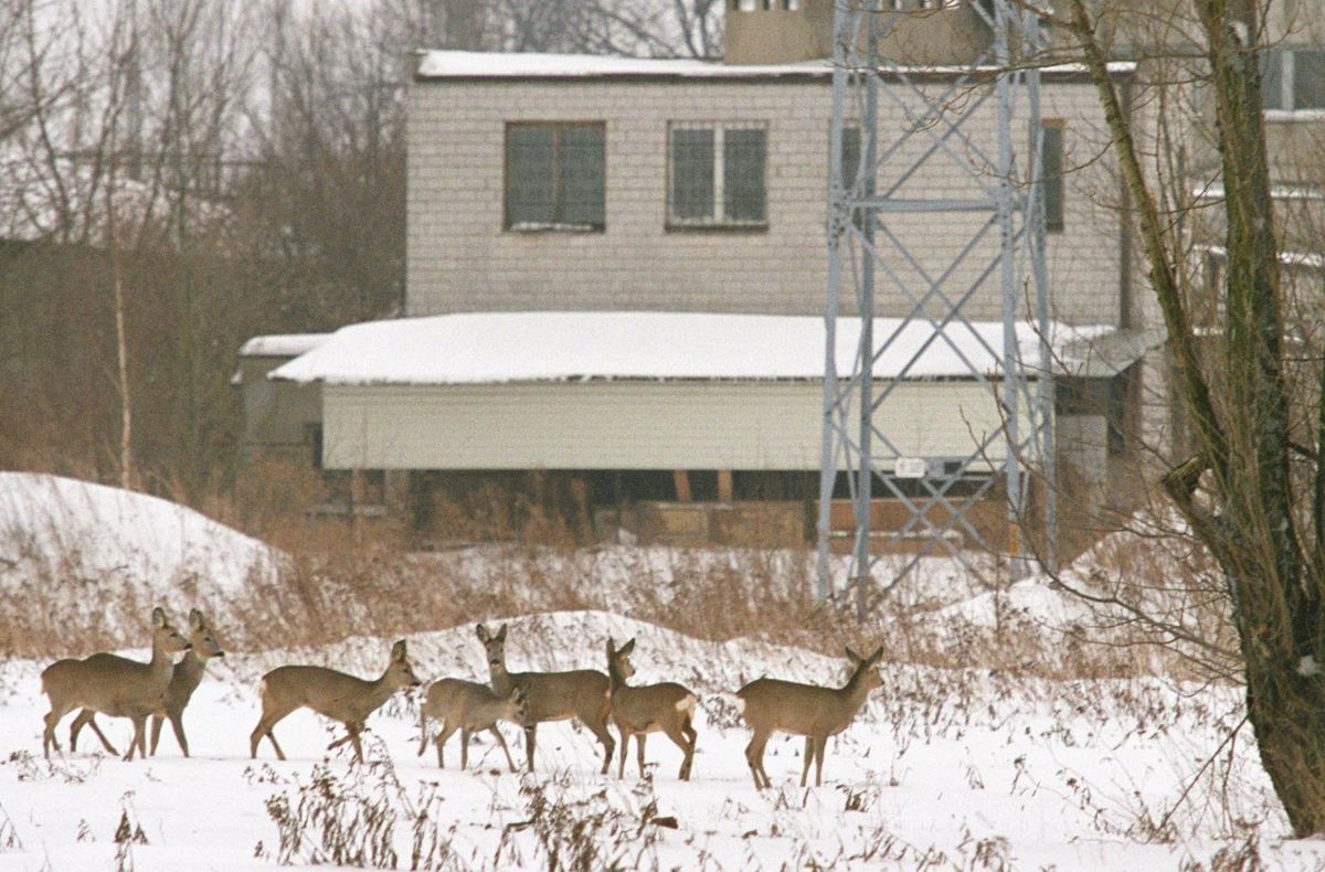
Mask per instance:
[[[41,689],[50,698],[50,712],[41,736],[42,753],[49,758],[52,747],[60,750],[56,725],[65,714],[81,708],[132,720],[134,738],[125,759],[134,759],[134,750],[146,747],[147,717],[166,705],[166,688],[175,667],[171,655],[188,649],[188,640],[171,626],[166,612],[154,608],[150,663],[94,653],[82,660],[57,660],[46,667],[41,673]],[[101,741],[107,751],[114,753],[105,736]]]

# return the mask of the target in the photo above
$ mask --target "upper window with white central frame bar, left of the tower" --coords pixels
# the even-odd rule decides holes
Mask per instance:
[[[668,125],[668,227],[765,228],[767,126]]]

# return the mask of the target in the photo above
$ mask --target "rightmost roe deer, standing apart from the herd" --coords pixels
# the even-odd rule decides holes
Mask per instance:
[[[758,679],[737,690],[737,708],[754,730],[746,746],[746,762],[754,775],[757,789],[771,787],[768,773],[763,770],[763,746],[774,733],[792,733],[806,737],[806,761],[800,770],[800,786],[806,786],[810,761],[815,765],[815,786],[823,785],[824,747],[828,737],[841,733],[855,720],[865,697],[874,688],[884,686],[884,679],[873,667],[884,656],[880,645],[874,653],[861,657],[847,648],[847,659],[853,671],[840,688],[822,688],[778,679]]]

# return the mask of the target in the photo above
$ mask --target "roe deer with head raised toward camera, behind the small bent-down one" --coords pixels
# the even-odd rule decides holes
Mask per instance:
[[[587,726],[603,743],[603,774],[612,762],[616,741],[607,732],[608,700],[607,676],[594,669],[572,672],[507,672],[506,671],[506,624],[496,633],[478,624],[478,641],[488,652],[488,668],[492,672],[493,693],[506,696],[514,688],[525,690],[525,704],[529,706],[529,720],[525,725],[525,759],[529,771],[534,771],[534,746],[538,725],[543,721],[564,721],[576,718]]]

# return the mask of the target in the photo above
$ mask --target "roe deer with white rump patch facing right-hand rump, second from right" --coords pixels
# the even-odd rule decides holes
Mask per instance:
[[[616,722],[616,732],[621,734],[621,766],[616,777],[625,777],[625,753],[633,736],[643,778],[644,739],[649,733],[662,730],[685,754],[677,777],[681,781],[690,781],[690,763],[694,761],[697,738],[690,725],[694,720],[696,696],[674,681],[640,688],[627,685],[625,680],[635,675],[635,667],[631,665],[632,651],[635,651],[633,639],[620,648],[615,648],[611,639],[607,640],[608,698],[612,721]]]

